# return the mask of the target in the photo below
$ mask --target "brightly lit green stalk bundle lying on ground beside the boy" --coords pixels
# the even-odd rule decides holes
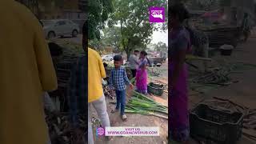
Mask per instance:
[[[143,94],[133,92],[133,97],[130,98],[126,105],[126,113],[152,115],[159,118],[168,119],[168,107],[155,102],[154,99],[146,97]]]

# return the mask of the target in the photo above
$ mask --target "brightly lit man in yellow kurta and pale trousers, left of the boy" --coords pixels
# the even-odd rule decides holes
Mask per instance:
[[[90,120],[90,105],[94,106],[102,126],[110,126],[110,118],[106,111],[105,95],[102,89],[102,78],[106,78],[102,58],[97,51],[88,48],[88,143],[94,144],[93,130]],[[107,139],[110,140],[110,139]]]

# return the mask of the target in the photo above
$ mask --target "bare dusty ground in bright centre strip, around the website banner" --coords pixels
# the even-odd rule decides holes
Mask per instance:
[[[152,79],[158,79],[161,82],[168,82],[167,63],[164,63],[161,67],[162,74],[158,77],[151,77]],[[167,83],[166,83],[167,84]],[[128,92],[129,93],[129,92]],[[167,105],[167,93],[164,93],[161,98],[151,96],[155,98],[157,102]],[[146,116],[141,114],[126,114],[127,121],[122,122],[122,119],[118,113],[111,114],[110,111],[114,109],[114,105],[110,98],[106,98],[106,104],[108,114],[110,115],[111,126],[158,126],[160,129],[160,136],[158,137],[114,137],[110,142],[106,142],[104,138],[94,137],[95,144],[164,144],[167,143],[168,134],[168,122],[166,119],[157,118],[154,116]],[[115,100],[114,100],[115,101]],[[93,114],[97,118],[97,114]],[[94,130],[95,131],[95,130]],[[94,134],[95,136],[95,134]]]

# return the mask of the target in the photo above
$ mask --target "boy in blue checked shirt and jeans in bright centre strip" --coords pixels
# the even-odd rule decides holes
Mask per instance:
[[[117,105],[115,110],[112,110],[112,113],[119,110],[119,106],[121,105],[121,116],[122,120],[126,121],[126,86],[130,86],[130,89],[133,89],[133,85],[130,83],[127,75],[126,69],[122,67],[122,56],[115,55],[114,56],[114,69],[111,70],[110,74],[110,88],[115,90],[117,97]]]

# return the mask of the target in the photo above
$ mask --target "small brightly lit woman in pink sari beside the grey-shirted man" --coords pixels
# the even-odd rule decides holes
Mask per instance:
[[[146,58],[146,51],[142,50],[140,54],[140,61],[139,66],[136,72],[136,87],[137,91],[142,94],[147,94],[147,58]]]

